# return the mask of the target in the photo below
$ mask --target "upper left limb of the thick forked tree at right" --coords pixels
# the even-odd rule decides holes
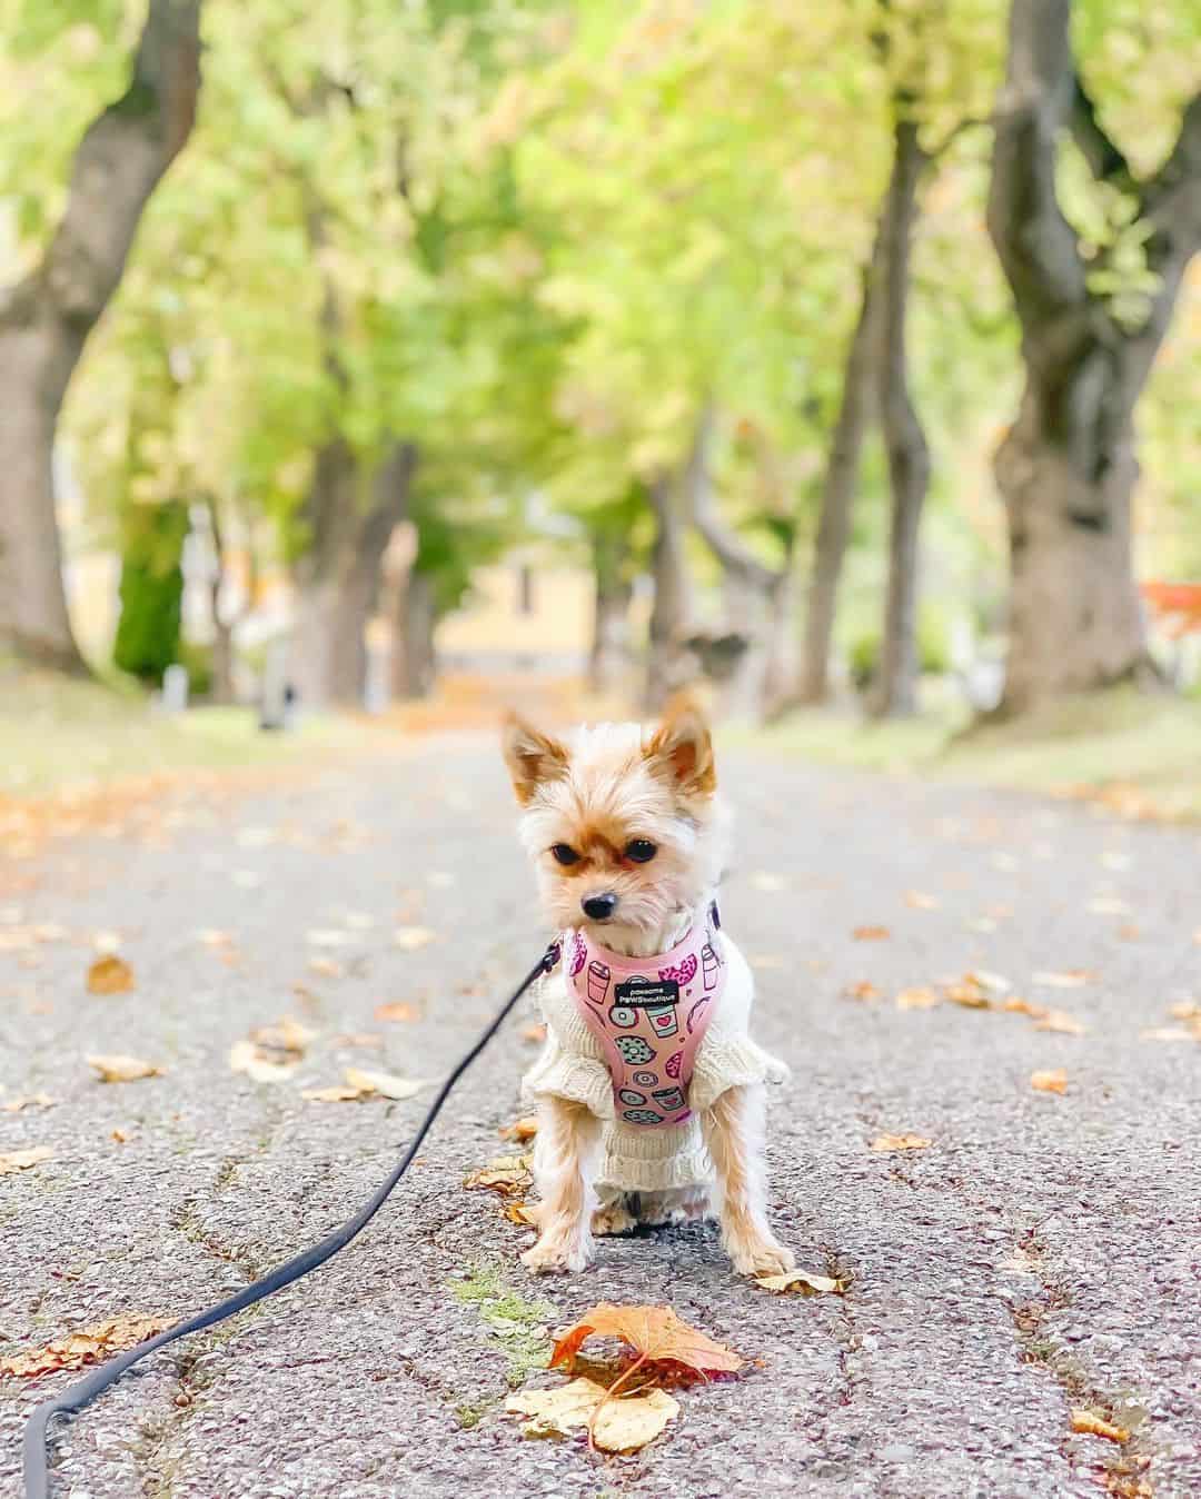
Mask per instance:
[[[1077,235],[1056,196],[1059,132],[1074,75],[1069,0],[1014,0],[996,120],[988,231],[1024,327],[1089,304]]]

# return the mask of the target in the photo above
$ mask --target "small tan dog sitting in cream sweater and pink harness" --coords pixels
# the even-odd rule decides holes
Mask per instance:
[[[543,983],[532,1271],[583,1270],[594,1234],[715,1213],[745,1276],[789,1270],[765,1211],[765,1081],[754,985],[715,904],[727,817],[688,699],[649,733],[567,742],[513,715],[504,754],[561,964]]]

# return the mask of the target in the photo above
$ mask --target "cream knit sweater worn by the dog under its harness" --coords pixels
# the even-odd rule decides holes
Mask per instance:
[[[748,1082],[783,1082],[789,1069],[748,1034],[754,980],[747,959],[718,932],[727,962],[721,1001],[696,1057],[688,1105],[693,1117],[678,1129],[646,1129],[616,1118],[613,1082],[600,1042],[576,1009],[562,968],[541,985],[538,1001],[546,1021],[546,1045],[526,1073],[522,1091],[585,1103],[604,1120],[597,1184],[625,1192],[658,1192],[712,1181],[714,1168],[700,1133],[699,1115],[727,1090]]]

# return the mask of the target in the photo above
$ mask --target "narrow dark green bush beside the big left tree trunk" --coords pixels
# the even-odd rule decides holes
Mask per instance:
[[[186,507],[156,505],[138,516],[126,537],[112,661],[144,682],[160,682],[178,660],[186,534]]]

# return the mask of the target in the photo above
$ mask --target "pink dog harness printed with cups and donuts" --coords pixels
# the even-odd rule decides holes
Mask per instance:
[[[649,1129],[691,1118],[697,1048],[726,983],[717,907],[670,952],[625,958],[582,931],[564,935],[576,1009],[604,1046],[618,1117]]]

